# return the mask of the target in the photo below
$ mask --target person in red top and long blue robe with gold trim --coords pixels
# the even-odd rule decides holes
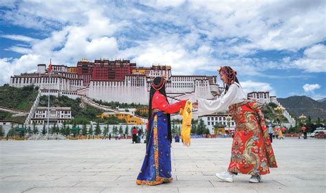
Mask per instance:
[[[169,104],[165,79],[154,78],[149,95],[149,124],[146,136],[146,155],[136,183],[157,185],[171,182],[171,118],[186,104],[186,100]]]

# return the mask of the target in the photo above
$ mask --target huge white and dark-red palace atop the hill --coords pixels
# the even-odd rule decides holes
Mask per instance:
[[[187,98],[213,99],[219,93],[217,76],[173,76],[171,66],[137,67],[130,60],[79,60],[76,67],[52,65],[49,76],[46,65],[38,65],[34,73],[21,73],[10,78],[10,86],[35,85],[50,94],[87,96],[102,101],[148,104],[151,82],[157,76],[166,76],[169,101]],[[48,92],[47,92],[48,93]]]

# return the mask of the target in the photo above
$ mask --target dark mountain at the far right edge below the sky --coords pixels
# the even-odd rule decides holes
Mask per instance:
[[[292,96],[289,98],[277,98],[277,100],[285,107],[290,115],[299,117],[304,114],[305,116],[310,116],[312,120],[326,119],[326,103],[318,102],[309,98],[307,96]]]

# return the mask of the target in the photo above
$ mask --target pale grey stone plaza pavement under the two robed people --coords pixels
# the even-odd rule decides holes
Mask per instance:
[[[174,181],[135,183],[145,145],[131,140],[0,141],[0,192],[325,192],[324,139],[273,141],[279,168],[249,183],[238,175],[222,182],[232,139],[192,139],[172,144]]]

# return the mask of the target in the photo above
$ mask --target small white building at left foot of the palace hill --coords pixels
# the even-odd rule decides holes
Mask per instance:
[[[50,125],[63,124],[67,120],[72,120],[72,110],[70,107],[50,107]],[[31,124],[47,124],[47,107],[37,107]]]

